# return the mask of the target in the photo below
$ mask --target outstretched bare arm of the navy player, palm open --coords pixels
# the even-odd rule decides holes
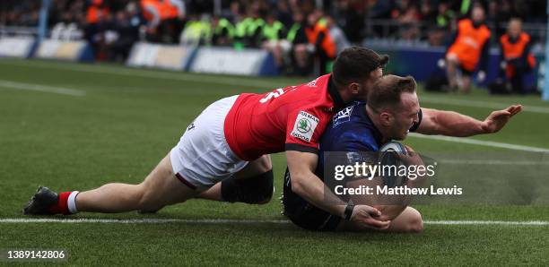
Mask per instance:
[[[466,137],[476,134],[497,133],[522,110],[521,105],[493,111],[484,121],[454,111],[422,108],[423,119],[416,132]]]

